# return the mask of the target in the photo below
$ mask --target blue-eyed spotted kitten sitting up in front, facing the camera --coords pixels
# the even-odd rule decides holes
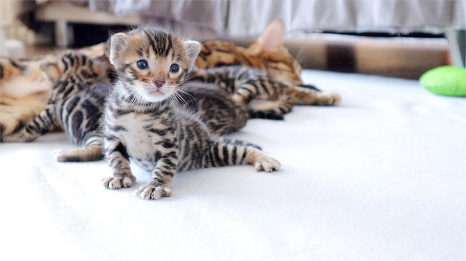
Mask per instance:
[[[220,140],[198,117],[173,101],[200,51],[195,41],[151,28],[111,37],[110,61],[118,74],[104,111],[105,154],[113,176],[103,185],[131,187],[129,160],[152,171],[136,194],[142,199],[171,196],[177,171],[255,165],[273,171],[280,163],[245,142]]]

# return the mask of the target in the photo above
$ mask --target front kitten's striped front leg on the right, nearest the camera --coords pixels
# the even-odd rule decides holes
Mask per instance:
[[[141,199],[160,199],[162,196],[172,196],[169,186],[175,175],[177,164],[177,155],[162,157],[157,161],[149,182],[141,186],[136,194]]]

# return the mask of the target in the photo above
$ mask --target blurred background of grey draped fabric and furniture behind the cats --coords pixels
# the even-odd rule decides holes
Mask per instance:
[[[419,78],[465,65],[464,0],[0,0],[2,56],[79,48],[139,24],[248,46],[281,18],[303,68]]]

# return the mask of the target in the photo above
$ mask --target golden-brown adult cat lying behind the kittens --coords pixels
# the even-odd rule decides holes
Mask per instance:
[[[248,48],[237,47],[225,41],[204,42],[195,65],[201,69],[221,65],[246,65],[266,71],[278,81],[302,85],[301,67],[284,47],[283,34],[283,22],[275,19],[266,27],[257,42]],[[90,58],[105,59],[109,65],[109,76],[111,76],[108,43],[97,44],[79,51]],[[13,132],[15,128],[28,122],[45,108],[51,86],[48,81],[45,81],[40,65],[51,62],[57,57],[60,57],[60,53],[37,60],[0,58],[2,135]],[[288,87],[284,93],[287,97],[280,97],[279,100],[291,99],[294,104],[335,105],[340,99],[335,93],[321,92],[319,96],[310,95],[309,90],[301,87]],[[256,110],[273,110],[280,107],[280,104],[280,101],[254,102],[251,103],[251,107],[255,107]]]

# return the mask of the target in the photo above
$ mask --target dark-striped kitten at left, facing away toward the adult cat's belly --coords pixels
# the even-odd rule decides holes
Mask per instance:
[[[102,106],[111,89],[109,83],[104,83],[107,80],[105,63],[70,51],[57,62],[42,65],[42,69],[53,83],[45,110],[29,124],[3,136],[2,141],[30,142],[60,126],[72,142],[83,147],[58,151],[58,161],[101,160]]]

